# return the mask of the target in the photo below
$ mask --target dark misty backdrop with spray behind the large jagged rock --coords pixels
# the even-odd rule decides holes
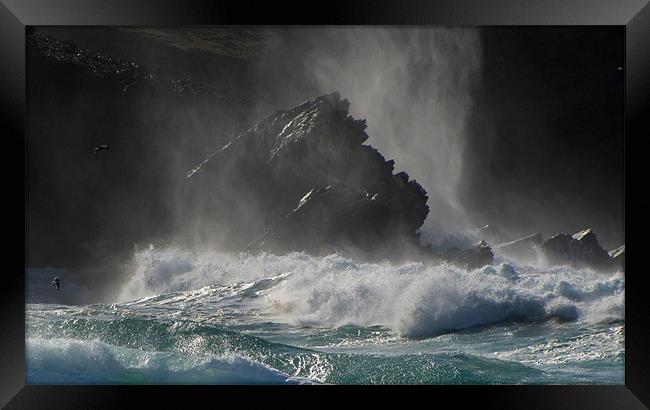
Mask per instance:
[[[36,33],[223,98],[123,91],[28,47],[29,267],[110,277],[135,246],[182,243],[184,228],[209,223],[178,212],[186,172],[272,112],[335,90],[367,119],[367,143],[428,191],[425,237],[493,224],[515,237],[592,227],[607,248],[624,241],[622,28]],[[103,143],[110,152],[93,156]]]

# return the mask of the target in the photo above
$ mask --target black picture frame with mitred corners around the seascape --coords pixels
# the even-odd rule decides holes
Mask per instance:
[[[445,0],[249,2],[183,0],[0,0],[0,113],[5,181],[25,193],[25,27],[29,25],[615,25],[626,32],[625,204],[626,236],[643,231],[640,200],[629,223],[630,181],[643,188],[643,150],[650,135],[650,5],[646,0]],[[645,104],[644,104],[645,103]],[[10,144],[7,144],[9,142]],[[636,148],[631,148],[632,146]],[[642,145],[641,145],[642,146]],[[25,154],[21,158],[18,154]],[[17,164],[7,161],[11,159]],[[23,161],[21,168],[19,162]],[[639,170],[634,170],[639,167]],[[22,171],[17,171],[22,170]],[[22,186],[21,186],[22,173]],[[9,195],[5,196],[10,198]],[[27,200],[25,196],[25,200]],[[6,199],[18,208],[17,200]],[[7,220],[18,214],[6,208]],[[26,210],[26,207],[23,211]],[[26,213],[25,213],[26,215]],[[25,217],[24,232],[28,221]],[[13,233],[13,232],[12,232]],[[16,237],[6,232],[8,242]],[[627,239],[627,238],[626,238]],[[627,241],[626,241],[627,242]],[[643,240],[631,241],[628,264],[642,257]],[[25,241],[25,253],[27,252]],[[24,264],[18,251],[2,275],[0,297],[0,405],[7,408],[120,408],[143,399],[150,407],[223,404],[333,406],[358,398],[407,401],[414,393],[429,404],[443,397],[456,405],[499,408],[647,408],[650,406],[649,298],[642,270],[627,269],[624,386],[35,386],[25,384]],[[26,256],[26,255],[25,255]],[[397,394],[400,394],[397,396]],[[317,398],[304,396],[317,396]],[[345,395],[343,399],[341,395]],[[200,404],[199,401],[203,403]]]

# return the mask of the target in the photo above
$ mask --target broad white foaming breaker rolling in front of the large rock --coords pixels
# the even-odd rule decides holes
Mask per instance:
[[[466,271],[447,264],[357,263],[336,254],[250,256],[155,248],[140,252],[136,260],[123,295],[250,282],[241,287],[241,297],[255,294],[250,303],[256,308],[294,325],[384,325],[404,336],[426,337],[504,320],[624,319],[621,273],[569,267],[538,271],[509,264]],[[284,280],[258,289],[265,283],[260,280],[279,275]]]

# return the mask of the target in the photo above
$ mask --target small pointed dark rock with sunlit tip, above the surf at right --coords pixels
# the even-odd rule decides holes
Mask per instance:
[[[559,233],[546,240],[540,246],[546,261],[553,265],[572,265],[607,269],[611,258],[596,238],[591,229],[585,229],[576,234]]]

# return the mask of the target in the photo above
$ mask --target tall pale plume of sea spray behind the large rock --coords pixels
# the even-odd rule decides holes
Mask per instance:
[[[470,228],[457,190],[480,79],[477,29],[331,28],[307,35],[305,68],[321,92],[338,90],[367,120],[367,144],[429,194],[423,230]]]

